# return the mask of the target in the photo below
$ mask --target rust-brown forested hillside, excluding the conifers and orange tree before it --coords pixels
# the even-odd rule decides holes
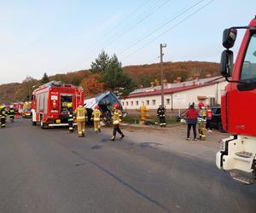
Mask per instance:
[[[137,84],[137,87],[148,87],[151,82],[160,82],[160,64],[124,66],[126,72]],[[183,61],[165,62],[163,65],[165,79],[172,83],[181,78],[182,81],[192,78],[206,78],[208,76],[219,75],[219,64],[205,61]],[[50,76],[49,80],[62,81],[80,85],[84,79],[90,78],[89,70],[79,72],[67,72],[66,74],[56,74]],[[86,81],[84,81],[86,82]],[[26,101],[27,96],[32,93],[35,85],[39,85],[41,79],[26,78],[22,83],[7,83],[0,85],[0,102],[9,103],[11,101]],[[82,84],[84,86],[84,84]],[[85,88],[86,89],[86,88]]]

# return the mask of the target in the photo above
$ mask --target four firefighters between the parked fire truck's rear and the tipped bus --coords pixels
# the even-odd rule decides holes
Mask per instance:
[[[74,112],[73,112],[72,103],[68,103],[67,109],[68,109],[68,131],[70,133],[73,133],[74,131],[73,121],[74,121],[74,118],[76,118],[79,137],[83,137],[85,134],[85,122],[88,120],[87,112],[86,112],[86,109],[84,108],[84,103],[80,102],[79,107],[77,107]],[[121,119],[120,119],[121,115],[122,113],[119,111],[119,104],[117,103],[113,104],[113,112],[112,112],[113,136],[110,139],[111,141],[115,141],[117,132],[120,134],[120,139],[125,137],[123,132],[119,129],[119,124],[121,122]],[[96,106],[95,110],[91,114],[91,120],[93,121],[95,132],[101,132],[101,118],[102,118],[102,112],[100,111],[100,107]]]

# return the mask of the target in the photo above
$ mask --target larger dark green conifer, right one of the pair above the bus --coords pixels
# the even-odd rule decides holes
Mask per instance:
[[[136,83],[123,72],[122,64],[116,55],[110,58],[107,68],[101,74],[101,81],[119,97],[129,95],[136,88]]]

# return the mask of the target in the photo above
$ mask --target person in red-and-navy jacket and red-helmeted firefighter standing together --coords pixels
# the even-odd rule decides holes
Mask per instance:
[[[193,140],[196,141],[196,124],[198,124],[198,134],[201,141],[206,140],[206,131],[212,132],[211,119],[212,111],[210,108],[205,107],[204,103],[198,104],[199,110],[195,109],[195,104],[190,105],[189,110],[187,111],[187,140],[189,141],[189,135],[191,127],[193,129]]]

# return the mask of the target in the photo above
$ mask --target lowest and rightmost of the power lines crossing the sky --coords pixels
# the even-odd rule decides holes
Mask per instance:
[[[212,3],[214,0],[211,0],[210,2],[206,3],[205,5],[203,5],[200,9],[195,10],[195,12],[193,12],[192,14],[187,15],[183,20],[180,20],[179,22],[177,22],[177,24],[173,25],[172,27],[168,28],[165,32],[162,32],[160,35],[158,35],[157,37],[154,37],[153,39],[151,39],[148,43],[145,43],[142,47],[140,47],[139,49],[136,49],[135,51],[131,52],[131,54],[129,55],[125,55],[125,57],[123,57],[121,60],[124,60],[126,58],[128,58],[131,55],[136,54],[138,51],[140,51],[141,49],[143,49],[144,47],[148,46],[149,43],[154,42],[156,39],[158,39],[159,37],[162,37],[164,34],[166,34],[166,32],[171,31],[172,29],[174,29],[175,27],[179,26],[180,24],[182,24],[185,20],[188,20],[192,15],[197,14],[199,11],[201,11],[201,9],[204,9],[207,7],[208,4]]]

